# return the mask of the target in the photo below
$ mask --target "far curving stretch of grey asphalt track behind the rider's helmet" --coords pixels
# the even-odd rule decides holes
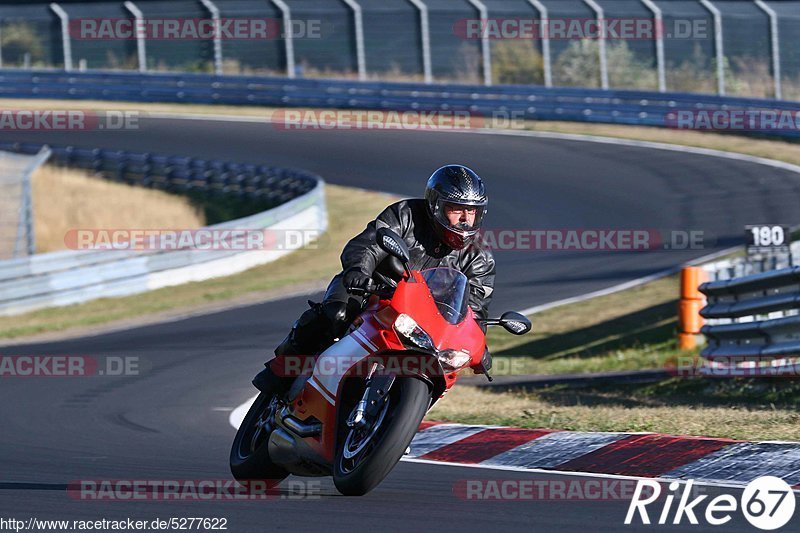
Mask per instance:
[[[0,140],[151,151],[311,170],[330,183],[419,196],[446,163],[487,181],[486,227],[703,231],[696,250],[496,252],[496,311],[585,294],[741,244],[745,224],[800,223],[800,175],[663,150],[471,133],[295,130],[141,118],[138,130],[0,132]],[[666,233],[669,240],[669,233]]]

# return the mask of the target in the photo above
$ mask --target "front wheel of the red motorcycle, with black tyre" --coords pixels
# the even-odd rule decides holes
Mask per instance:
[[[391,472],[416,435],[430,404],[428,385],[417,378],[398,378],[375,420],[366,427],[341,424],[333,465],[333,482],[342,494],[360,496]]]

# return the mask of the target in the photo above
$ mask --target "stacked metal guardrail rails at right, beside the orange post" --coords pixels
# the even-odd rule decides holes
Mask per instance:
[[[800,267],[712,281],[700,292],[708,302],[701,316],[729,320],[701,329],[708,339],[702,352],[707,359],[800,355]],[[774,318],[773,313],[793,314]],[[753,318],[734,322],[743,317]]]

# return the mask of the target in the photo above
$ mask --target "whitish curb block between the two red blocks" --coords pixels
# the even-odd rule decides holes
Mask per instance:
[[[572,433],[558,431],[526,442],[507,452],[483,461],[482,465],[553,468],[586,455],[612,442],[624,439],[626,433]]]

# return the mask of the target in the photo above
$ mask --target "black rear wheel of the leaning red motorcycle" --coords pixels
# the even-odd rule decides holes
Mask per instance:
[[[267,446],[278,407],[277,398],[267,391],[247,411],[231,447],[231,473],[237,481],[263,480],[275,486],[289,475],[272,462]]]

